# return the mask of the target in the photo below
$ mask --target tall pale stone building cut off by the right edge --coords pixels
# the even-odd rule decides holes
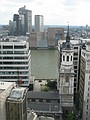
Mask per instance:
[[[90,119],[90,41],[86,43],[86,50],[81,50],[79,110],[82,120]]]

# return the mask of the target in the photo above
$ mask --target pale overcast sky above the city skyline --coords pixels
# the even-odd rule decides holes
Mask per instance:
[[[34,16],[43,15],[44,25],[90,26],[90,0],[0,0],[0,24],[9,24],[19,8],[26,6]]]

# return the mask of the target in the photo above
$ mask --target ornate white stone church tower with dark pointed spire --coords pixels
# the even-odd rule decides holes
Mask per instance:
[[[59,69],[58,90],[62,110],[72,111],[74,107],[74,68],[73,68],[73,46],[70,42],[69,26],[66,41],[61,45],[61,64]]]

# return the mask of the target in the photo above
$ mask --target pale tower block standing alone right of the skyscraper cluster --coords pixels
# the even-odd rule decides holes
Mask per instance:
[[[35,32],[44,32],[43,15],[35,15]]]

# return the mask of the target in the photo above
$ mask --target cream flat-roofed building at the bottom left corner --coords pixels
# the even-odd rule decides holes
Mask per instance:
[[[14,82],[0,82],[0,120],[6,120],[6,99],[15,86]]]

